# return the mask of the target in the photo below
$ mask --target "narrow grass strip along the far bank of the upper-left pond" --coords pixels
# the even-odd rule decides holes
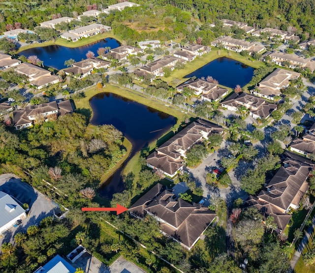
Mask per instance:
[[[77,47],[82,47],[88,44],[95,43],[105,38],[114,38],[117,41],[121,42],[121,40],[116,35],[114,35],[112,31],[107,31],[101,34],[91,36],[89,38],[82,38],[76,42],[71,42],[71,41],[59,38],[56,41],[47,41],[44,43],[33,43],[24,47],[20,47],[17,51],[17,54],[27,49],[37,48],[37,47],[46,47],[46,46],[51,46],[51,45],[59,45],[59,46],[64,46],[68,48],[77,48]]]

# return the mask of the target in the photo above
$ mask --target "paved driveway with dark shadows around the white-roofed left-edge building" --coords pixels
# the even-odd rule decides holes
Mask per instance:
[[[0,246],[4,242],[14,243],[13,237],[18,232],[26,232],[31,225],[38,225],[40,221],[47,217],[60,212],[59,206],[49,200],[45,195],[36,191],[31,185],[22,182],[14,174],[0,175],[0,191],[3,191],[22,204],[27,203],[30,206],[29,217],[22,220],[22,224],[18,227],[12,227],[2,238],[0,238]]]

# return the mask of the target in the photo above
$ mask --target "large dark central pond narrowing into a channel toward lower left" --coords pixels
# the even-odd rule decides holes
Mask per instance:
[[[97,94],[91,98],[90,104],[92,124],[112,124],[132,143],[129,159],[176,123],[176,118],[169,114],[112,93]],[[125,189],[121,175],[127,162],[102,185],[100,196],[111,199],[114,193]]]

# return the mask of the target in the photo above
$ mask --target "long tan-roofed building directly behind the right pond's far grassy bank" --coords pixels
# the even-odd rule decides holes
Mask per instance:
[[[211,45],[214,47],[218,47],[220,45],[224,46],[225,49],[235,51],[235,52],[242,52],[247,50],[250,54],[256,52],[260,53],[265,50],[264,46],[256,45],[253,42],[247,42],[239,39],[234,39],[232,37],[226,36],[223,38],[219,38],[213,42]]]

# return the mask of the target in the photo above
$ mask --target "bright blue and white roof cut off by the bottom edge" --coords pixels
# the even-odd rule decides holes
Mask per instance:
[[[75,273],[76,269],[61,256],[57,255],[34,273]]]

